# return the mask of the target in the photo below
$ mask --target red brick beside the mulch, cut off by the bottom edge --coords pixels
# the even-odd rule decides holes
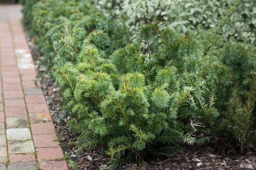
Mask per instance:
[[[66,161],[39,161],[39,167],[44,170],[68,170]]]

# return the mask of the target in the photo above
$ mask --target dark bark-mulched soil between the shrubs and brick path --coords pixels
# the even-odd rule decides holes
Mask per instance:
[[[31,43],[30,43],[31,45]],[[32,55],[35,63],[38,63],[39,54],[32,49]],[[41,67],[39,70],[45,70]],[[65,159],[69,169],[90,169],[103,170],[108,166],[107,158],[101,157],[97,150],[85,150],[82,155],[77,155],[78,147],[75,145],[78,134],[72,133],[64,119],[59,121],[61,115],[59,88],[56,87],[54,81],[49,78],[49,74],[39,71],[39,80],[44,91],[44,95],[52,115],[53,123],[57,131],[58,137],[61,139],[61,147],[65,154]],[[208,146],[183,146],[184,154],[177,155],[173,158],[149,158],[147,166],[139,167],[136,163],[123,165],[120,169],[125,170],[158,170],[158,169],[256,169],[256,152],[248,152],[245,155],[235,156],[231,152],[219,154],[215,151],[215,147]]]

